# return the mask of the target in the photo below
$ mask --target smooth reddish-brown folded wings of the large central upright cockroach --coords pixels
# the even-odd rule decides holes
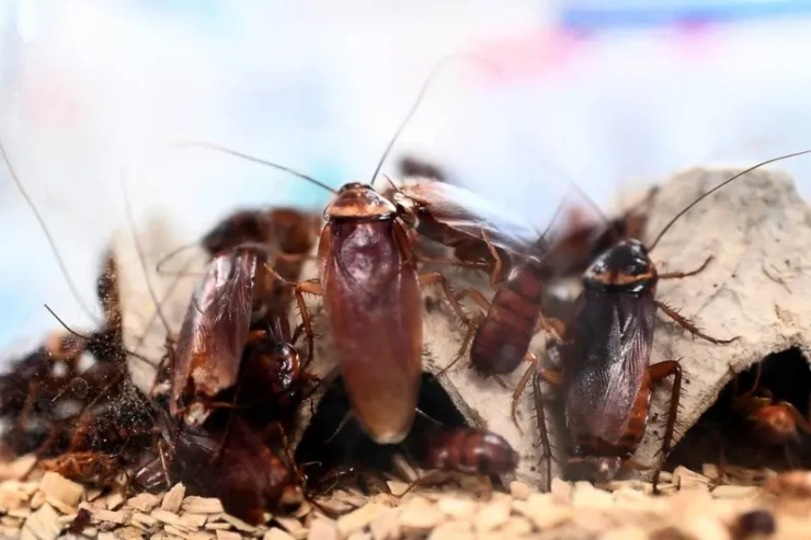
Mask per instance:
[[[392,220],[332,222],[321,238],[324,309],[352,410],[379,444],[414,420],[422,302],[407,234]]]

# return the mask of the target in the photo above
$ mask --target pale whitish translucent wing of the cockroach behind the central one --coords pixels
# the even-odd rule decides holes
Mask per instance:
[[[401,193],[425,207],[431,217],[450,229],[490,242],[513,253],[526,253],[540,237],[528,221],[514,217],[479,195],[452,184],[422,182],[402,187]]]

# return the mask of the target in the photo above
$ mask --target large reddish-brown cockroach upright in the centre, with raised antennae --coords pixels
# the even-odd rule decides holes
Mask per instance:
[[[373,179],[436,72],[434,68],[423,84]],[[366,433],[379,444],[402,441],[414,420],[422,372],[421,285],[439,284],[457,317],[466,321],[445,277],[418,273],[418,255],[401,219],[406,212],[367,184],[350,183],[335,192],[288,168],[222,147],[179,146],[225,151],[292,172],[335,193],[323,214],[327,225],[319,240],[320,278],[296,284],[296,294],[323,297],[352,411]],[[299,307],[311,335],[306,309]]]

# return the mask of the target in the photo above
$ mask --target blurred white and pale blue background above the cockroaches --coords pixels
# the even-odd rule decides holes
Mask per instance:
[[[542,223],[568,179],[621,187],[698,163],[811,148],[808,0],[5,0],[0,138],[87,302],[101,252],[168,211],[192,240],[235,206],[329,194],[179,140],[227,145],[340,185],[414,153]],[[807,48],[809,50],[807,50]],[[811,159],[781,168],[811,195]],[[0,349],[92,325],[0,168]]]

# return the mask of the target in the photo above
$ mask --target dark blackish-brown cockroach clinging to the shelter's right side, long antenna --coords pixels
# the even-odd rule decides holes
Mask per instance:
[[[621,466],[633,464],[630,458],[647,426],[651,383],[673,376],[661,459],[653,474],[655,489],[671,450],[682,384],[678,361],[649,365],[656,309],[694,336],[711,343],[727,344],[738,337],[709,336],[655,299],[660,279],[695,275],[709,260],[693,272],[659,274],[649,253],[676,220],[710,194],[763,165],[806,153],[811,150],[772,159],[735,174],[676,214],[650,248],[639,240],[625,239],[592,263],[583,277],[584,290],[576,301],[573,321],[564,331],[564,344],[559,349],[561,366],[540,370],[544,380],[563,389],[566,426],[572,445],[571,466],[581,468],[597,482],[606,482]],[[525,380],[533,369],[536,367],[527,370]],[[516,391],[516,399],[518,395]],[[545,455],[550,451],[545,450]]]

